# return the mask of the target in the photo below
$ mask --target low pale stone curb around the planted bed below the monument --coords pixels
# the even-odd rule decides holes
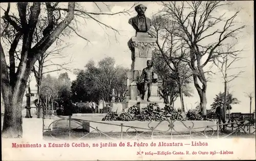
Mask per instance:
[[[114,125],[106,125],[101,123],[109,123]],[[133,126],[137,131],[151,131],[150,128],[148,128],[149,121],[98,121],[98,123],[95,122],[84,122],[83,128],[86,129],[88,132],[95,131],[94,128],[98,128],[102,132],[120,132],[121,131],[121,124],[124,126]],[[159,122],[153,121],[150,123],[150,127],[156,127]],[[174,122],[174,128],[177,132],[189,132],[189,129],[184,126],[184,124],[189,127],[193,126],[193,131],[203,131],[207,126],[217,125],[215,121],[175,121]],[[119,126],[117,126],[119,125]],[[130,127],[122,127],[123,132],[125,132]],[[144,128],[144,129],[140,129]],[[214,130],[217,130],[217,126],[212,126]],[[169,123],[167,121],[161,122],[155,130],[161,130],[166,131],[169,129]],[[206,129],[210,130],[210,129]],[[129,129],[129,131],[135,131],[134,129]],[[170,132],[170,129],[168,130]]]

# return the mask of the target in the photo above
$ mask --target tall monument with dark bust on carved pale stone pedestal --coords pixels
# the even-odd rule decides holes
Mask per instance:
[[[156,42],[156,38],[151,38],[147,33],[152,23],[151,19],[145,16],[146,9],[147,8],[141,4],[136,6],[135,10],[138,15],[129,19],[129,24],[136,30],[136,35],[128,42],[129,49],[132,52],[132,65],[131,71],[127,74],[126,108],[133,105],[144,108],[150,102],[163,103],[163,99],[161,99],[158,94],[158,85],[161,83],[161,80],[147,84],[143,82],[144,85],[141,85],[139,82],[143,68],[147,66],[147,62],[152,62],[152,50]],[[156,74],[153,75],[157,77]],[[142,90],[141,86],[143,87],[142,89],[147,88],[147,90],[150,89],[151,91],[146,94],[146,91]],[[148,99],[148,94],[151,95],[150,99]],[[144,98],[142,96],[147,98],[147,100],[143,100]]]

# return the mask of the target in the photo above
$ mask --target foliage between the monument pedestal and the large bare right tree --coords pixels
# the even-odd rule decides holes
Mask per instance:
[[[177,59],[185,57],[180,49],[179,43],[174,39],[174,33],[166,33],[167,25],[161,16],[153,17],[152,37],[157,38],[157,48],[153,51],[154,68],[162,80],[160,96],[165,104],[172,104],[177,97],[181,99],[181,107],[184,110],[183,95],[190,97],[192,90],[189,88],[191,82],[191,70],[188,63]],[[159,26],[161,25],[161,26]],[[164,36],[163,36],[164,35]],[[161,43],[163,41],[163,43]]]

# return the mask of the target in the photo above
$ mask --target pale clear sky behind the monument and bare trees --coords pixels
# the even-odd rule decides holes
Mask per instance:
[[[147,7],[145,15],[152,18],[152,15],[157,13],[162,7],[160,2],[137,2],[143,4]],[[99,12],[99,9],[94,3],[81,3],[79,2],[79,7],[85,9],[88,12]],[[102,12],[109,12],[104,4],[97,3],[102,9]],[[119,12],[124,9],[129,9],[133,6],[134,2],[115,2],[108,3],[110,5],[111,12]],[[245,96],[245,93],[253,92],[254,94],[254,33],[253,33],[253,1],[234,1],[233,5],[229,8],[223,8],[219,11],[227,12],[227,14],[232,14],[237,9],[242,9],[241,13],[238,15],[237,20],[241,24],[246,25],[244,32],[239,40],[236,48],[244,48],[245,52],[241,53],[244,57],[241,61],[235,64],[236,66],[245,66],[242,70],[244,73],[237,79],[233,80],[230,87],[230,93],[234,97],[238,98],[240,104],[233,105],[231,112],[249,112],[249,98]],[[91,43],[87,43],[86,40],[76,36],[74,33],[70,37],[62,37],[67,43],[72,43],[73,45],[62,51],[65,55],[70,55],[73,62],[70,65],[72,68],[83,69],[84,65],[89,60],[99,61],[104,57],[114,57],[117,64],[124,67],[131,67],[131,51],[127,46],[127,42],[133,36],[135,36],[135,30],[128,24],[129,18],[136,16],[135,9],[132,9],[131,15],[114,15],[98,16],[98,20],[104,22],[107,25],[117,29],[119,34],[115,34],[110,29],[104,29],[100,27],[97,22],[93,20],[87,20],[84,22],[82,18],[77,18],[79,21],[77,32],[90,40]],[[217,13],[218,14],[218,13]],[[70,59],[55,59],[55,62],[62,63]],[[51,69],[49,69],[51,70]],[[212,70],[217,71],[217,68]],[[66,71],[51,73],[52,76],[58,76],[60,73]],[[238,71],[234,70],[233,73]],[[75,80],[76,75],[72,72],[68,72],[71,80]],[[220,75],[213,76],[214,79],[207,83],[207,109],[210,109],[210,104],[213,102],[214,97],[220,92],[224,91],[224,83]],[[31,82],[35,84],[35,81]],[[195,108],[197,102],[199,102],[199,96],[193,84],[193,97],[185,97],[184,102],[187,109]],[[180,107],[180,101],[177,99],[175,102],[175,107]],[[254,99],[252,101],[252,112],[254,111]]]

